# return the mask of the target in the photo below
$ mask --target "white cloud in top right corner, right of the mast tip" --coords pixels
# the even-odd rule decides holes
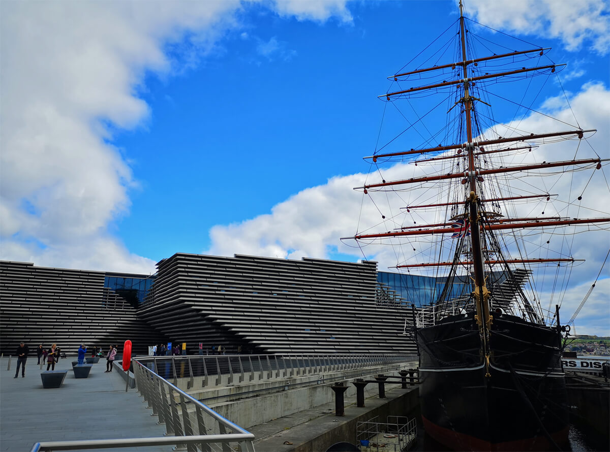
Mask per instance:
[[[610,4],[606,0],[469,0],[479,23],[504,32],[559,38],[569,50],[610,50]]]

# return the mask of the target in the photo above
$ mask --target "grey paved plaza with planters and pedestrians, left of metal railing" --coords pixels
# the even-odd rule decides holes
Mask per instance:
[[[106,361],[93,365],[88,378],[74,378],[74,357],[60,359],[56,370],[68,370],[62,387],[43,389],[36,356],[27,359],[26,376],[15,376],[8,358],[0,361],[0,451],[30,451],[34,443],[87,439],[160,437],[164,425],[146,408],[137,390],[125,392],[117,369],[104,373]],[[46,364],[44,369],[46,369]],[[126,451],[133,449],[106,449]],[[171,451],[167,447],[137,450]]]

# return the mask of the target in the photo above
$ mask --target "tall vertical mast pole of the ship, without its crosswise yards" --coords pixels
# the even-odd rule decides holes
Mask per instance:
[[[483,270],[483,252],[481,252],[481,233],[479,231],[479,223],[481,216],[478,211],[478,194],[476,193],[476,168],[475,168],[475,146],[472,137],[472,118],[470,111],[472,110],[472,97],[470,97],[470,89],[468,82],[468,63],[466,58],[466,33],[464,27],[464,5],[462,0],[459,2],[459,21],[460,21],[460,37],[462,43],[462,65],[464,66],[464,97],[461,102],[464,104],[464,112],[466,115],[466,137],[468,153],[468,185],[470,187],[470,196],[467,199],[468,211],[470,214],[470,243],[472,246],[472,263],[475,281],[475,290],[472,292],[475,297],[476,306],[476,322],[479,325],[479,332],[483,339],[484,353],[489,362],[489,353],[487,349],[487,338],[489,336],[489,328],[492,318],[489,314],[489,291],[485,285],[485,274]]]

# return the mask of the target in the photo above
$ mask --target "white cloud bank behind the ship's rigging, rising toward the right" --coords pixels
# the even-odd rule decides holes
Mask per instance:
[[[571,107],[571,109],[570,109]],[[570,107],[565,104],[565,99],[547,99],[544,110],[560,121],[573,122],[573,115],[579,118],[580,124],[586,129],[598,129],[598,132],[588,138],[588,143],[581,141],[580,150],[576,158],[597,157],[595,150],[601,158],[608,157],[608,143],[610,143],[610,130],[607,124],[610,119],[610,91],[601,83],[590,83],[583,87],[580,93],[572,96]],[[533,114],[514,124],[497,125],[495,132],[488,132],[488,136],[511,136],[522,135],[512,132],[514,126],[527,133],[542,133],[549,130],[570,129],[565,124],[558,129],[558,122],[547,116]],[[533,152],[519,154],[512,164],[526,164],[534,161],[572,160],[575,156],[578,142],[573,140],[553,144],[550,150],[540,147]],[[524,157],[525,156],[525,157]],[[610,205],[610,194],[607,186],[608,172],[605,166],[601,170],[589,169],[585,172],[572,174],[565,173],[559,169],[550,177],[550,182],[545,188],[553,194],[558,194],[557,200],[553,197],[550,202],[541,201],[534,211],[516,210],[506,212],[508,216],[554,216],[562,217],[603,217],[608,216],[608,205]],[[422,175],[423,165],[396,164],[392,168],[383,171],[382,177],[386,180],[400,180],[404,178]],[[440,171],[442,174],[447,170]],[[425,188],[414,188],[404,192],[400,198],[393,199],[378,193],[375,204],[365,197],[364,202],[361,192],[353,191],[353,187],[364,185],[366,175],[355,174],[343,177],[331,178],[328,183],[321,186],[305,189],[290,199],[274,206],[270,214],[258,216],[239,224],[227,226],[217,225],[210,231],[212,247],[206,251],[215,255],[232,255],[233,253],[245,253],[251,255],[265,255],[279,258],[300,258],[302,256],[329,258],[334,252],[342,252],[353,255],[354,258],[362,258],[362,252],[357,248],[350,248],[339,241],[342,236],[350,236],[356,232],[375,233],[393,230],[403,225],[417,222],[417,224],[434,224],[444,221],[444,217],[431,211],[415,211],[406,213],[401,207],[406,205],[423,204],[428,202],[439,202],[431,199],[431,191]],[[378,182],[379,175],[371,175],[374,182]],[[371,181],[369,181],[370,183]],[[512,190],[513,195],[531,194],[534,188],[525,185],[522,177],[511,174],[505,181],[507,188]],[[584,191],[587,186],[586,191]],[[523,192],[520,192],[523,190]],[[583,193],[584,191],[584,193]],[[576,200],[583,194],[581,201]],[[381,196],[380,196],[381,195]],[[390,195],[392,196],[392,195]],[[570,203],[565,203],[570,200]],[[525,204],[520,207],[525,208]],[[541,214],[544,210],[545,214]],[[385,216],[385,218],[382,217]],[[370,230],[367,228],[370,227]],[[578,227],[583,230],[583,227]],[[595,231],[597,229],[597,231]],[[544,235],[532,235],[534,230],[525,230],[526,241],[534,245],[537,250],[529,255],[529,258],[556,258],[574,257],[585,260],[573,267],[571,280],[564,277],[564,267],[555,267],[546,270],[546,275],[553,275],[558,270],[559,279],[555,281],[556,289],[570,289],[565,294],[562,316],[572,315],[573,311],[583,299],[584,294],[597,276],[610,249],[610,238],[607,229],[593,226],[592,231],[587,234],[562,235],[562,230],[547,228]],[[572,230],[567,230],[570,234]],[[509,247],[514,248],[514,241],[510,233],[503,235]],[[551,244],[547,245],[546,241]],[[422,250],[428,247],[427,238],[393,239],[395,244],[400,242],[399,247],[390,247],[373,243],[365,247],[366,257],[379,262],[379,269],[385,270],[396,264],[407,261],[409,263],[422,262]],[[560,253],[552,250],[559,247]],[[415,249],[415,250],[414,250]],[[515,255],[517,256],[517,255]],[[514,257],[515,257],[514,256]],[[447,256],[445,256],[447,259]],[[415,271],[417,270],[417,271]],[[423,269],[415,269],[415,274],[425,274]],[[602,334],[608,333],[608,319],[610,318],[610,305],[608,305],[609,270],[606,267],[598,282],[594,296],[587,302],[578,317],[576,325],[580,334]],[[606,278],[606,279],[604,279]],[[551,280],[553,278],[551,277]],[[554,309],[554,304],[562,304],[559,295],[551,296],[547,293],[547,286],[534,277],[536,289],[539,293],[536,297],[542,300],[544,309]],[[583,283],[583,281],[589,281]],[[576,284],[576,287],[573,287]],[[553,298],[554,297],[554,298]],[[580,297],[580,298],[579,298]],[[595,321],[593,321],[595,320]]]

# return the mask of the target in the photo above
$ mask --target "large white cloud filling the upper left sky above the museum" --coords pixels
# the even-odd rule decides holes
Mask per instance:
[[[350,20],[345,1],[268,5],[298,19]],[[138,95],[146,72],[195,64],[235,26],[241,7],[236,0],[0,3],[0,258],[154,270],[107,231],[137,186],[110,144],[112,130],[149,115]]]

